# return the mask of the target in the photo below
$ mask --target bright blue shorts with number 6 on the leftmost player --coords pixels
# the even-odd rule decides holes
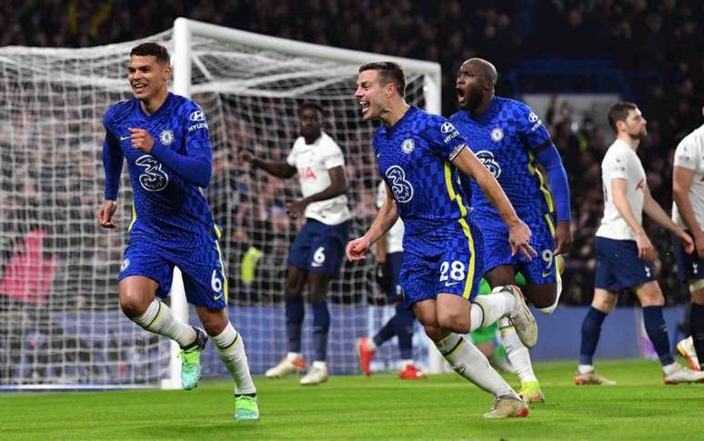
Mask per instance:
[[[171,291],[174,266],[181,270],[188,303],[211,309],[227,305],[227,278],[216,239],[201,246],[166,248],[133,236],[117,280],[148,277],[159,284],[156,296],[166,298]]]

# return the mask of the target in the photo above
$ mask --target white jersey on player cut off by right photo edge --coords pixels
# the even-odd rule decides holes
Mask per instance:
[[[689,185],[689,202],[697,216],[699,227],[704,226],[704,125],[685,136],[675,149],[675,166],[694,171]],[[678,226],[687,228],[679,215],[677,204],[672,203],[672,220]]]

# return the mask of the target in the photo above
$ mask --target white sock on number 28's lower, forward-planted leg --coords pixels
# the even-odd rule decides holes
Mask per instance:
[[[487,357],[464,337],[452,333],[435,346],[460,376],[494,396],[516,396],[511,386],[489,365]]]

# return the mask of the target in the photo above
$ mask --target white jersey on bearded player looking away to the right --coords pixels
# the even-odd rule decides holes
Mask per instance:
[[[608,147],[601,161],[601,185],[604,189],[604,217],[598,227],[597,236],[618,240],[635,240],[636,233],[614,205],[611,181],[626,179],[626,199],[639,224],[643,222],[646,175],[640,159],[630,145],[618,139]]]

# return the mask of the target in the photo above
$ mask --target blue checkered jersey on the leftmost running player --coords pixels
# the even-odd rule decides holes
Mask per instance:
[[[131,240],[138,237],[140,241],[174,248],[212,242],[216,229],[202,189],[153,155],[134,148],[129,131],[146,129],[154,138],[155,147],[160,144],[178,155],[198,157],[210,166],[210,138],[201,108],[183,96],[169,93],[164,104],[147,115],[133,97],[108,108],[103,124],[104,149],[120,161],[119,155],[123,155],[127,161],[134,198]],[[107,191],[106,198],[110,198]]]

